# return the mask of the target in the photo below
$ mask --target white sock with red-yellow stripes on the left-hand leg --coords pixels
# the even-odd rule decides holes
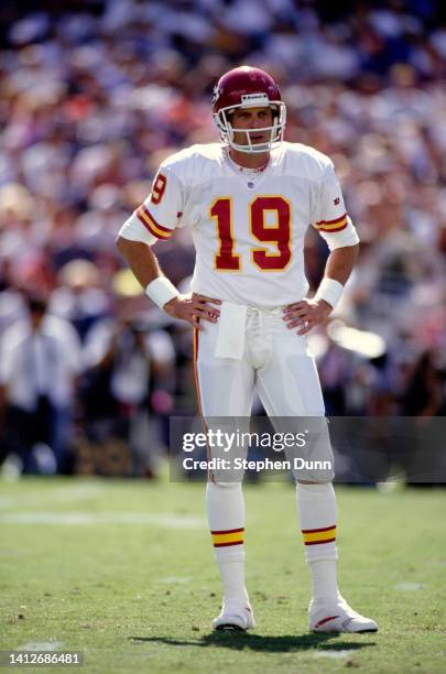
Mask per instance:
[[[224,609],[246,605],[244,500],[240,482],[208,482],[206,507],[216,561],[224,587]]]

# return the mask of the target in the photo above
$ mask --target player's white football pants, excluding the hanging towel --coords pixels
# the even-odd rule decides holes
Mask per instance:
[[[333,452],[316,365],[308,354],[306,337],[297,335],[297,328],[289,329],[282,316],[282,307],[248,307],[244,351],[240,360],[214,355],[218,323],[203,322],[205,329],[195,333],[200,413],[208,427],[215,425],[215,418],[221,427],[219,417],[227,417],[224,424],[228,428],[230,417],[237,417],[240,427],[240,417],[246,417],[248,423],[257,391],[266,414],[272,417],[275,432],[302,432],[298,417],[305,417],[305,426],[309,426],[313,439],[316,438],[305,448],[305,460],[328,461],[331,468],[314,471],[302,468],[293,470],[294,476],[301,480],[327,482],[334,477]],[[228,481],[228,476],[214,472],[214,479]]]

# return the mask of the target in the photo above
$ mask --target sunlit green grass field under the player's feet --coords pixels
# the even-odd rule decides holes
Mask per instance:
[[[246,487],[258,627],[240,635],[209,629],[220,589],[203,483],[0,488],[2,650],[53,642],[84,651],[88,673],[446,672],[446,490],[338,488],[340,586],[380,631],[330,637],[307,633],[290,485]]]

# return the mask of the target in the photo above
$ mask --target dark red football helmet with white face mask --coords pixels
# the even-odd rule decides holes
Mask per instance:
[[[237,129],[247,135],[247,144],[241,145],[233,141],[233,129],[228,116],[237,108],[259,108],[269,106],[273,112],[273,126],[259,131],[269,131],[268,143],[253,144],[250,132],[252,129]],[[213,113],[220,132],[221,140],[229,143],[240,152],[268,152],[276,146],[283,139],[286,123],[286,108],[281,100],[281,93],[274,79],[260,68],[241,66],[225,73],[214,87]]]

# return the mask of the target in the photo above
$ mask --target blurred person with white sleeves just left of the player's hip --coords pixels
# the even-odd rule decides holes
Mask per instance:
[[[151,328],[144,316],[124,309],[116,322],[100,320],[91,328],[84,362],[87,435],[97,443],[109,437],[126,439],[132,474],[154,475],[165,450],[160,422],[174,405],[171,337],[165,330]]]

